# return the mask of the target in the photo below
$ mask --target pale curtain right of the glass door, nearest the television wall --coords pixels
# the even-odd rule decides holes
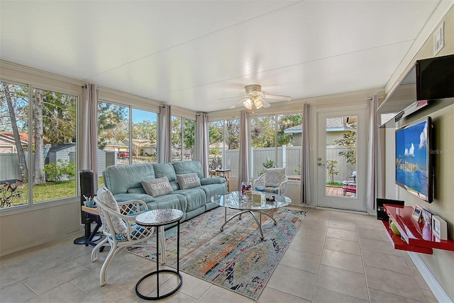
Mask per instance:
[[[370,101],[369,105],[369,142],[367,143],[367,192],[366,209],[373,210],[375,207],[375,153],[377,147],[377,95]]]

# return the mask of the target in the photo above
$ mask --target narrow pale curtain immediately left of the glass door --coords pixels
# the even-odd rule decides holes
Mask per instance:
[[[305,103],[303,108],[303,130],[301,141],[301,203],[311,204],[311,175],[309,165],[309,108],[310,105]]]

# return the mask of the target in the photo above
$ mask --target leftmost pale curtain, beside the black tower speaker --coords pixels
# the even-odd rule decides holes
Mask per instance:
[[[83,87],[82,101],[80,102],[79,130],[82,142],[79,142],[79,168],[93,171],[94,192],[98,190],[98,88],[94,84]]]

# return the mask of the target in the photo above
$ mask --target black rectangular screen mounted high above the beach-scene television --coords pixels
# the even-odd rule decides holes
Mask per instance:
[[[454,97],[454,55],[416,61],[416,100]]]

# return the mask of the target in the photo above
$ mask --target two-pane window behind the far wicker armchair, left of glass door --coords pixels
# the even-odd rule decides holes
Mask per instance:
[[[273,167],[287,167],[289,176],[300,174],[301,120],[299,113],[250,119],[252,178]]]

